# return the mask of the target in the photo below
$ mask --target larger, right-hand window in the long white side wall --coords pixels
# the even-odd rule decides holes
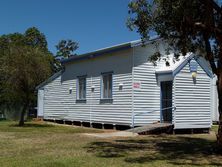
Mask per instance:
[[[112,73],[102,74],[101,98],[112,99]]]

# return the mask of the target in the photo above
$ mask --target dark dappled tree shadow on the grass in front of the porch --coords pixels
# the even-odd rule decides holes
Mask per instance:
[[[141,140],[93,142],[87,148],[98,157],[122,157],[128,163],[144,164],[163,160],[177,166],[222,166],[222,155],[215,141],[203,138],[154,136]]]

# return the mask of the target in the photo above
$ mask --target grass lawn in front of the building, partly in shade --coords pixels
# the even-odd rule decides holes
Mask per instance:
[[[91,132],[102,130],[0,121],[0,166],[222,166],[214,133],[111,139],[82,134]]]

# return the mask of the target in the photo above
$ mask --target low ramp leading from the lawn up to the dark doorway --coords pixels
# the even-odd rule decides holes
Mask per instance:
[[[141,127],[135,127],[128,129],[128,132],[138,133],[140,135],[153,134],[153,133],[169,133],[173,129],[173,124],[171,123],[155,123],[148,124]]]

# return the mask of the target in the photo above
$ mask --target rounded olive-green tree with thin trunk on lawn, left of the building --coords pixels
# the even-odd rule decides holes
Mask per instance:
[[[51,75],[49,59],[39,48],[17,45],[10,46],[9,54],[2,58],[3,97],[22,105],[20,126],[35,100],[36,86]]]

